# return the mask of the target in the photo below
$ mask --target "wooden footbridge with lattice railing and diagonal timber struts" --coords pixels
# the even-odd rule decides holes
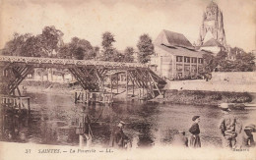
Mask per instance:
[[[32,74],[34,68],[68,69],[85,90],[92,92],[104,92],[107,78],[110,80],[112,91],[112,86],[118,85],[118,74],[109,73],[122,72],[125,74],[127,92],[128,83],[132,83],[133,87],[145,89],[145,96],[149,99],[161,95],[162,88],[166,84],[165,80],[147,65],[138,63],[0,56],[0,68],[2,73],[0,91],[5,95],[15,95],[15,90],[21,94],[18,86],[29,74]],[[117,80],[112,79],[113,75],[117,75]]]

